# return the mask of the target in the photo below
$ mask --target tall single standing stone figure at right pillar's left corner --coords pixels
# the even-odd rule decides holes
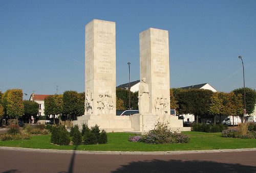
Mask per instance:
[[[150,91],[146,83],[146,78],[142,78],[139,85],[139,113],[148,113],[150,105]]]

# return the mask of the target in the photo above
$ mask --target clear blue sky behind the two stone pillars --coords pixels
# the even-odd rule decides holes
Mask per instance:
[[[139,79],[139,33],[169,31],[170,86],[256,89],[256,1],[0,1],[0,90],[84,90],[84,27],[116,22],[116,84]],[[28,98],[25,97],[25,98]]]

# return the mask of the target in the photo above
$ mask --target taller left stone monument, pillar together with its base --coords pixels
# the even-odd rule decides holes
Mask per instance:
[[[74,125],[96,124],[106,132],[132,131],[127,116],[116,116],[116,24],[93,19],[86,25],[84,115]]]

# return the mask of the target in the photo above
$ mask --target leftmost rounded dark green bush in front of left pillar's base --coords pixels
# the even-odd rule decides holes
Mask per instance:
[[[63,126],[53,127],[51,142],[58,145],[69,145],[69,132]]]

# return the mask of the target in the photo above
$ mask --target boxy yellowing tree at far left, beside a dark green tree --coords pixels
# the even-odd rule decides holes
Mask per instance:
[[[13,117],[19,118],[24,115],[23,91],[22,89],[10,89],[6,97],[6,113]]]

